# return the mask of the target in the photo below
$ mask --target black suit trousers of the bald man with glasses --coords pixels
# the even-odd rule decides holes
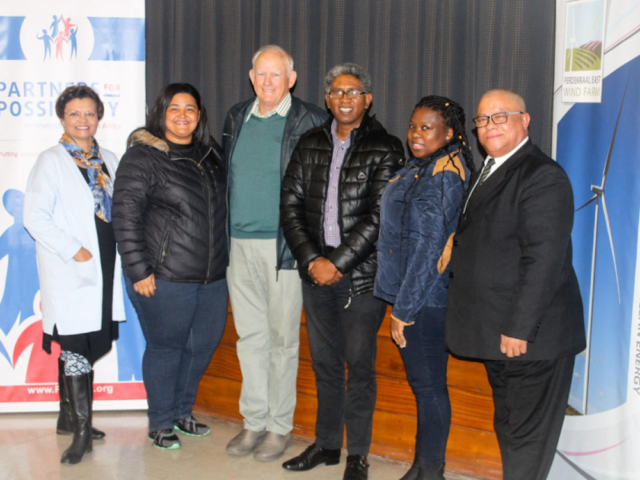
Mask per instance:
[[[564,422],[575,357],[485,361],[504,480],[544,480]]]

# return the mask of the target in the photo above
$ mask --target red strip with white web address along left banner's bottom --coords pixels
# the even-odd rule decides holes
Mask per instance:
[[[142,382],[96,383],[94,400],[144,400],[147,392]],[[58,383],[39,385],[0,386],[0,403],[3,402],[57,402]]]

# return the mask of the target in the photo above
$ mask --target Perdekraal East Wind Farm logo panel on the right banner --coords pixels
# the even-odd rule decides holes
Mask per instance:
[[[566,4],[563,102],[600,102],[606,0]]]

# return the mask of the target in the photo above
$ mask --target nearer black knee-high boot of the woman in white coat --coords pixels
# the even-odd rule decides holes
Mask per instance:
[[[73,442],[62,454],[60,463],[80,463],[93,449],[91,438],[91,374],[65,375],[64,387],[71,406]]]

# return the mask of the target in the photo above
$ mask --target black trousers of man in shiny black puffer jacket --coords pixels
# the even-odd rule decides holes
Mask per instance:
[[[349,276],[328,287],[302,286],[318,390],[316,444],[342,448],[346,425],[349,454],[367,455],[376,405],[376,341],[387,304],[372,292],[350,299],[350,286]]]

